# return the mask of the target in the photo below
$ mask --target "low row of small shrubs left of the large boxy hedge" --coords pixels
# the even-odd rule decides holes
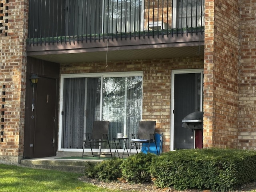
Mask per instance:
[[[101,181],[126,180],[128,182],[150,182],[150,168],[155,154],[139,153],[127,159],[112,158],[102,162],[85,162],[84,175]]]

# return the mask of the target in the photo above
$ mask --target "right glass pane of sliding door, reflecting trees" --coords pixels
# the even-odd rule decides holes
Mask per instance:
[[[110,139],[137,133],[141,120],[142,77],[104,78],[102,118],[110,121]]]

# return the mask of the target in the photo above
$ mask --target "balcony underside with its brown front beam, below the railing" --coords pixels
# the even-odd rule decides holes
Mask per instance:
[[[27,45],[27,55],[58,63],[159,59],[204,55],[204,33]]]

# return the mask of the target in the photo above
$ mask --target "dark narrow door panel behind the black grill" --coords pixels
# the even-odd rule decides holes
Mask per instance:
[[[182,119],[192,112],[200,111],[198,77],[199,73],[175,74],[174,77],[174,150],[194,148],[194,132],[182,127]]]

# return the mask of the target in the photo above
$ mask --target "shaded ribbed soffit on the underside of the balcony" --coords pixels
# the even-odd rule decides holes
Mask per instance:
[[[106,62],[124,60],[168,59],[204,56],[204,46],[172,47],[138,50],[115,50],[70,54],[44,54],[32,57],[56,63]]]

